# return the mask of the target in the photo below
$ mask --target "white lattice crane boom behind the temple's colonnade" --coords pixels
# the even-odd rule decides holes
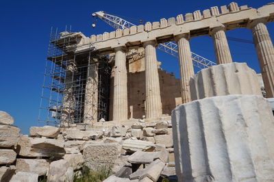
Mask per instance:
[[[132,26],[136,26],[133,23],[130,23],[129,21],[126,21],[125,19],[115,16],[113,14],[108,14],[106,12],[100,11],[92,13],[92,16],[97,16],[101,20],[103,20],[105,23],[108,23],[111,27],[114,27],[114,29],[125,29]],[[133,19],[133,18],[132,18]],[[136,21],[136,20],[135,20]],[[141,20],[137,20],[138,23],[143,23]],[[92,24],[92,27],[95,27],[95,24]],[[179,57],[178,55],[178,47],[175,42],[164,42],[158,45],[158,49],[161,51],[164,51],[165,53],[169,53],[170,55],[173,55],[174,57]],[[201,55],[198,55],[197,53],[192,53],[192,62],[193,65],[197,68],[207,68],[209,66],[216,65],[215,62],[212,62],[205,57],[202,57]]]

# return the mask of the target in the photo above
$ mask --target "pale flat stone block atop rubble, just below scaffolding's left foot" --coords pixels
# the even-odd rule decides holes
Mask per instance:
[[[32,137],[43,136],[43,137],[55,138],[59,135],[59,133],[60,133],[60,128],[51,127],[51,126],[30,127],[29,129],[29,135]]]

